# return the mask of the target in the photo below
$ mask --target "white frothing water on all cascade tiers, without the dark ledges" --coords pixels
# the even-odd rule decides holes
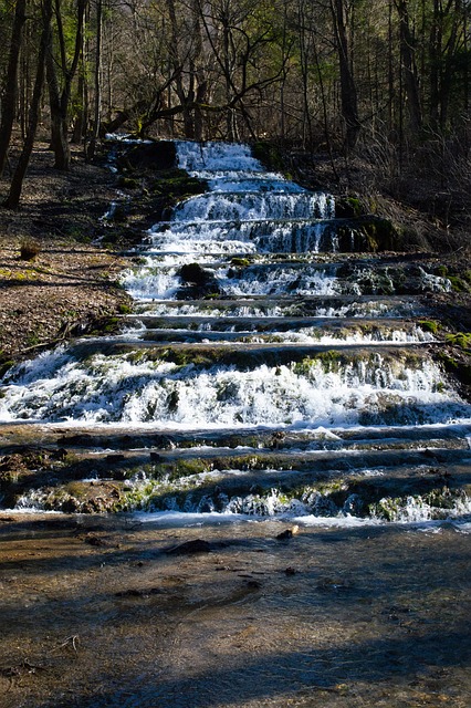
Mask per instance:
[[[336,248],[334,200],[328,195],[308,192],[280,175],[266,174],[245,146],[179,143],[178,155],[180,167],[207,179],[210,191],[181,204],[171,222],[156,225],[148,235],[149,248],[143,252],[140,266],[124,275],[123,284],[143,315],[140,323],[115,337],[115,342],[127,341],[124,351],[101,351],[100,344],[88,350],[85,345],[61,347],[22,364],[3,382],[1,421],[209,434],[243,428],[318,429],[328,439],[337,439],[333,430],[362,426],[471,424],[471,407],[453,391],[440,367],[421,355],[423,347],[411,356],[404,351],[409,344],[432,341],[430,333],[410,324],[362,327],[365,315],[414,315],[410,302],[389,302],[387,298],[366,301],[359,296],[357,302],[342,304],[339,295],[360,295],[365,283],[369,292],[394,292],[394,278],[393,271],[377,271],[374,263],[363,262],[356,272],[360,284],[355,277],[342,281],[337,270],[345,261],[336,264],[316,260],[314,254],[320,249]],[[232,258],[247,253],[255,256]],[[291,253],[300,253],[300,258],[290,260]],[[191,292],[185,292],[188,285],[180,278],[180,268],[193,262],[210,273],[220,289],[213,294],[214,303],[211,298],[203,301],[206,295],[193,298]],[[419,281],[429,291],[448,288],[444,279],[425,270],[419,273]],[[188,302],[182,302],[187,296]],[[318,326],[302,325],[278,331],[276,323],[272,326],[265,322],[260,332],[240,325],[237,331],[233,326],[219,332],[214,322],[229,316],[305,316],[310,298],[318,298],[317,304],[308,305],[310,316],[358,317],[358,329],[320,333]],[[337,298],[335,305],[329,304],[329,298]],[[205,317],[205,322],[155,332],[163,339],[168,336],[169,348],[172,335],[175,340],[185,337],[186,327],[200,335],[195,336],[197,342],[205,343],[206,334],[208,341],[217,342],[220,361],[218,356],[206,360],[205,346],[198,348],[199,345],[185,364],[159,356],[151,343],[147,350],[144,341],[133,352],[133,340],[151,340],[153,331],[146,326],[146,316],[151,315]],[[238,337],[243,343],[233,341]],[[378,346],[385,342],[401,344],[404,350],[397,347],[397,354],[393,347],[384,352]],[[244,354],[247,343],[253,347],[260,343],[255,357],[249,351]],[[270,363],[264,362],[268,343]],[[300,361],[294,345],[303,344],[335,347],[334,356],[323,361],[314,353],[313,358]],[[290,345],[292,361],[286,356]],[[364,350],[357,354],[355,345]],[[353,347],[352,354],[347,346]],[[339,361],[335,353],[341,348]],[[233,360],[229,361],[233,363],[227,363],[227,353],[232,353]],[[338,446],[342,449],[341,437]],[[362,450],[352,454],[362,455]],[[44,503],[44,493],[34,491],[20,503]],[[199,502],[198,514],[187,519],[199,523],[218,517],[233,520],[260,514],[300,516],[310,523],[313,509],[317,516],[322,512],[324,502],[317,499],[317,504],[316,499],[314,496],[285,502],[273,490],[263,500],[257,494],[228,499],[224,513],[207,514],[206,506],[211,503],[208,498]],[[189,510],[195,511],[190,506],[186,511]],[[463,500],[462,506],[457,502],[450,516],[469,511],[468,500]],[[433,513],[433,509],[411,497],[396,520],[430,519]],[[347,506],[338,522],[348,524],[348,519]]]

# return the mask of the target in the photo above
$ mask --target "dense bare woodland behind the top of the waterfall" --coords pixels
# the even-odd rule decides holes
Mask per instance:
[[[91,160],[128,131],[360,165],[360,189],[468,229],[469,0],[1,0],[0,41],[3,206],[35,136],[69,170],[71,143]]]

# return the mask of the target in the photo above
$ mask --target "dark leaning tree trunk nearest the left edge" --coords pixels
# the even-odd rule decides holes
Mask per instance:
[[[11,131],[13,128],[14,108],[18,97],[18,64],[20,61],[23,24],[27,21],[25,10],[27,0],[17,0],[13,28],[11,30],[7,80],[1,102],[0,177],[3,175],[3,169],[7,164],[8,148],[10,147]]]

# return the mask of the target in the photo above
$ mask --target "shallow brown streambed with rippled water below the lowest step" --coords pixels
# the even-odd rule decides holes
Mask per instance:
[[[469,524],[283,529],[3,516],[2,707],[469,706]]]

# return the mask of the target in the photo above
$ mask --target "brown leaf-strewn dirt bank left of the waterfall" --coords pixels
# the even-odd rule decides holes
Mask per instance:
[[[94,246],[115,197],[109,170],[74,154],[70,173],[50,167],[40,145],[18,211],[0,210],[0,361],[80,333],[128,306],[117,277],[125,267]],[[0,199],[8,189],[0,180]],[[21,253],[23,256],[21,256]]]

